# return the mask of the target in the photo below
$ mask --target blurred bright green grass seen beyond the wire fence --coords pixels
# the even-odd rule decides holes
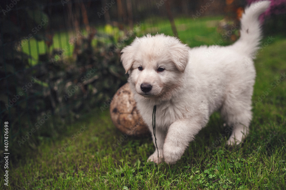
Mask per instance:
[[[218,22],[223,17],[204,17],[194,21],[192,18],[177,18],[175,24],[178,30],[178,36],[182,42],[189,44],[190,47],[198,46],[201,44],[211,45],[218,42],[221,39],[221,35],[217,33]],[[139,36],[146,33],[156,34],[164,33],[166,35],[173,35],[170,22],[167,19],[151,18],[141,22],[141,31],[138,32]],[[139,26],[137,23],[134,27]],[[108,33],[116,40],[124,37],[124,32],[120,31],[118,27],[111,26],[96,26],[96,30],[99,33]],[[83,28],[81,30],[82,35],[86,36],[87,32]],[[71,38],[75,38],[77,34],[75,32],[56,32],[53,36],[53,44],[50,47],[50,51],[53,49],[63,49],[63,56],[71,56],[74,50],[74,44],[70,43]],[[94,39],[92,44],[95,45],[98,39]],[[27,40],[22,40],[22,51],[30,55],[29,64],[35,65],[39,62],[39,54],[45,54],[48,50],[47,45],[43,40],[36,40],[34,37]],[[224,42],[221,45],[226,45]]]

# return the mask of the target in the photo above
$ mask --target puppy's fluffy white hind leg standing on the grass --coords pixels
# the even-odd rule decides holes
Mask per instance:
[[[252,119],[251,95],[227,95],[221,112],[232,131],[227,144],[241,143],[249,132],[249,124]]]

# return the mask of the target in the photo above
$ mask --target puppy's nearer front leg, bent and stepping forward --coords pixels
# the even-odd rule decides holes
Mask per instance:
[[[163,155],[167,164],[175,164],[184,154],[185,149],[201,129],[198,119],[179,120],[168,129]]]

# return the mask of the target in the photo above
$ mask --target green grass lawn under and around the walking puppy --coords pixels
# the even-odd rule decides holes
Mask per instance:
[[[209,23],[203,18],[201,21]],[[221,39],[215,27],[201,25],[192,34],[179,31],[182,41],[192,46]],[[192,30],[191,24],[182,27]],[[28,151],[19,163],[10,164],[9,186],[1,177],[0,187],[286,189],[286,38],[273,37],[255,60],[253,120],[243,144],[225,146],[227,139],[223,136],[228,134],[220,114],[214,113],[175,165],[156,165],[146,162],[154,151],[150,137],[125,139],[112,124],[109,112],[102,113],[98,108],[67,126],[60,140],[45,142],[37,150]]]

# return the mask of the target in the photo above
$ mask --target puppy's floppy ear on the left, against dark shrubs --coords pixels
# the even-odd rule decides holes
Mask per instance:
[[[134,62],[134,52],[136,51],[136,42],[138,38],[136,37],[134,41],[121,50],[121,62],[126,71],[126,73],[131,69]]]

